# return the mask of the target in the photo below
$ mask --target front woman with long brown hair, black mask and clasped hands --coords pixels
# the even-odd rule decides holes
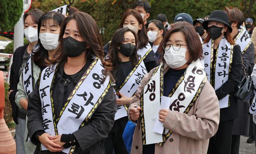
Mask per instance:
[[[116,98],[111,64],[103,60],[95,20],[84,12],[67,17],[59,49],[28,97],[28,132],[37,154],[103,154],[114,124]]]

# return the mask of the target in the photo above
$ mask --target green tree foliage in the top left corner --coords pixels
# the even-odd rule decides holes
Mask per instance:
[[[23,11],[23,0],[1,0],[0,30],[12,30]]]

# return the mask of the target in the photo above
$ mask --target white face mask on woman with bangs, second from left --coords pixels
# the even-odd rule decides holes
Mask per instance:
[[[48,51],[55,50],[59,45],[59,34],[39,33],[39,39],[44,49]]]

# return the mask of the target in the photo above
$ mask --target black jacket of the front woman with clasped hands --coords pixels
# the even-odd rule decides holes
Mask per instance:
[[[89,63],[89,61],[87,62]],[[77,74],[71,76],[71,82],[67,84],[66,87],[63,86],[63,65],[59,66],[57,76],[53,82],[53,104],[54,113],[59,115],[62,107],[64,106],[70,91],[72,91],[79,81],[81,75],[84,74],[85,70],[89,65],[84,66],[84,68]],[[60,102],[63,100],[62,102]],[[41,101],[38,92],[38,81],[36,83],[34,91],[29,94],[28,97],[28,121],[27,128],[29,137],[33,144],[37,145],[35,151],[36,154],[52,154],[52,152],[39,151],[40,142],[38,141],[35,134],[38,131],[44,131],[42,125],[42,110]],[[111,87],[102,100],[101,104],[96,109],[95,113],[92,115],[91,119],[85,124],[84,127],[78,129],[73,133],[78,144],[75,149],[74,154],[104,154],[103,140],[107,138],[107,134],[112,129],[114,124],[114,116],[117,111],[116,108],[116,97]],[[54,153],[55,154],[55,153]],[[59,154],[64,154],[60,152]]]

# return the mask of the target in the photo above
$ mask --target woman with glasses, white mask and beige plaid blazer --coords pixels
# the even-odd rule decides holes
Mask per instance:
[[[142,79],[128,108],[137,123],[131,154],[206,154],[218,129],[219,102],[200,63],[198,35],[177,22],[160,46],[162,65]]]

